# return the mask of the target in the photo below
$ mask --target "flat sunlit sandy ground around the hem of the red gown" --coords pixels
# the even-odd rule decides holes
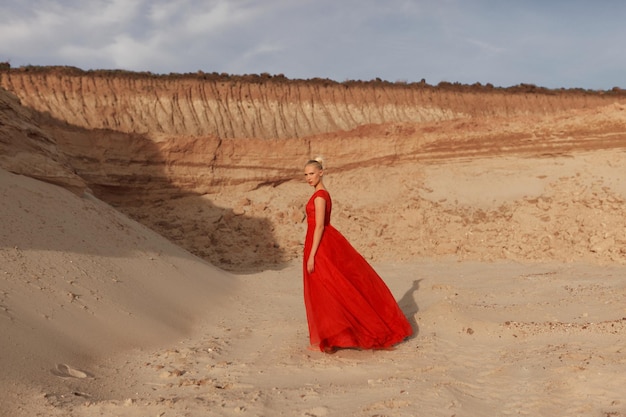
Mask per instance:
[[[334,355],[306,349],[299,268],[238,277],[170,346],[14,394],[23,415],[626,415],[624,267],[377,265],[417,334]]]

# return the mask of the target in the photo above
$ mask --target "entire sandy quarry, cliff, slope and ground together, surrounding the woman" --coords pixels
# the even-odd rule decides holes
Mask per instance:
[[[0,415],[626,416],[619,94],[0,75]],[[395,350],[307,349],[311,153]]]

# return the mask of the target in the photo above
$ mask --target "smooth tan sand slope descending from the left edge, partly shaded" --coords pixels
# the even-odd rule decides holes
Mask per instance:
[[[189,334],[236,284],[93,197],[4,170],[0,224],[6,415],[67,377],[99,381],[103,358]]]

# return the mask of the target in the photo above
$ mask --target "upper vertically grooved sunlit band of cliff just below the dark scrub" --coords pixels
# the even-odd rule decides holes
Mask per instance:
[[[607,103],[594,94],[489,88],[156,77],[125,73],[4,72],[23,104],[74,126],[166,136],[292,139],[363,125],[546,114]]]

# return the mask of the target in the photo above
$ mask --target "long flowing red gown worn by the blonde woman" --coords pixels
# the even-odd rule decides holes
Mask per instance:
[[[309,274],[316,197],[326,200],[324,233]],[[384,349],[413,333],[411,325],[380,276],[348,240],[330,225],[332,202],[326,190],[316,191],[306,205],[304,304],[311,346]]]

